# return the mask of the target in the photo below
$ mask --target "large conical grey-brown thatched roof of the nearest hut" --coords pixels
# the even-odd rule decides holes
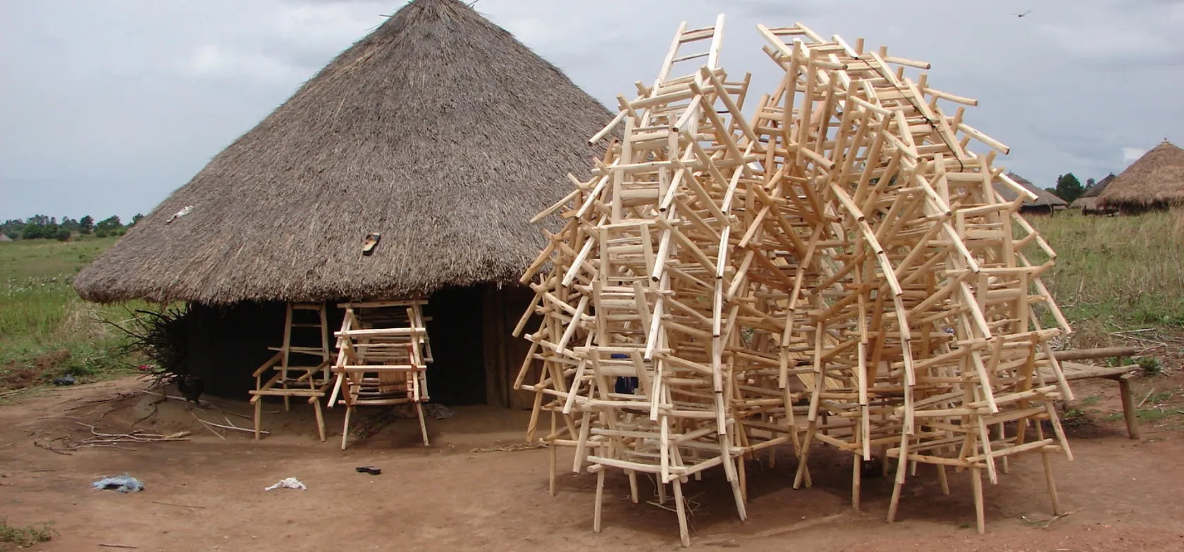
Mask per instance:
[[[612,118],[457,0],[414,0],[75,280],[97,301],[426,294],[516,281]],[[184,216],[170,217],[184,208]],[[381,233],[362,255],[367,233]]]

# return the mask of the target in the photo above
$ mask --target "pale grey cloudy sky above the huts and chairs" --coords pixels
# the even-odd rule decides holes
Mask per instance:
[[[148,213],[403,0],[0,0],[0,220]],[[721,64],[772,90],[755,26],[802,22],[932,64],[997,164],[1040,187],[1184,143],[1184,0],[478,0],[616,105],[678,24],[727,14]],[[1025,13],[1027,12],[1027,13]],[[1017,14],[1025,13],[1024,17]],[[755,99],[755,98],[754,98]]]

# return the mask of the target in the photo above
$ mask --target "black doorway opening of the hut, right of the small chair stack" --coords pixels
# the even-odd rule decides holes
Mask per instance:
[[[431,402],[463,405],[485,403],[485,366],[481,337],[482,288],[445,287],[424,307],[433,362],[427,365]]]

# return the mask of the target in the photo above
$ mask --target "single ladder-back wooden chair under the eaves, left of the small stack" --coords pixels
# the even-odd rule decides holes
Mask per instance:
[[[311,322],[296,320],[297,313],[313,313],[316,318]],[[304,317],[308,318],[308,317]],[[284,397],[284,410],[291,408],[291,397],[307,398],[316,413],[317,433],[321,441],[324,441],[324,416],[321,413],[321,398],[333,383],[329,372],[332,364],[329,349],[329,331],[326,317],[326,305],[320,304],[292,304],[288,303],[288,313],[284,320],[284,340],[278,348],[269,348],[276,353],[252,374],[255,376],[255,389],[251,391],[251,404],[255,405],[255,439],[259,440],[259,422],[263,417],[263,397]],[[294,345],[294,333],[307,337],[310,330],[317,330],[320,345]],[[294,362],[292,356],[301,355],[303,359],[316,358],[316,363]],[[264,375],[275,372],[264,381]]]

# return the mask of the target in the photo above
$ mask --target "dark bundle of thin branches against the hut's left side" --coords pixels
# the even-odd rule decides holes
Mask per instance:
[[[154,387],[168,384],[189,375],[186,317],[188,305],[161,311],[129,311],[129,319],[110,323],[131,338],[126,353],[137,353],[149,359],[143,371]]]

